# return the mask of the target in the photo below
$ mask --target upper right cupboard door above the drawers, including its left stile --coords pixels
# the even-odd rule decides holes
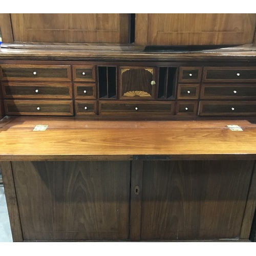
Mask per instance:
[[[137,45],[251,44],[256,14],[136,14]]]

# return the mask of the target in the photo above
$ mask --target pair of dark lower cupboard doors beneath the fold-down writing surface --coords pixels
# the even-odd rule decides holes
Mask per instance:
[[[9,170],[1,167],[4,181],[5,173],[13,175],[24,241],[237,241],[248,240],[251,230],[254,162],[14,161]]]

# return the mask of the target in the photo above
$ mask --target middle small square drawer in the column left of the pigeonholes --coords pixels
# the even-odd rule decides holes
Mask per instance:
[[[76,99],[96,99],[96,84],[75,83],[74,93]]]

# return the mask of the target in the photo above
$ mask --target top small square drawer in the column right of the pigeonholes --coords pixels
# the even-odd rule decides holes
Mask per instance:
[[[202,67],[180,67],[179,82],[200,82]]]

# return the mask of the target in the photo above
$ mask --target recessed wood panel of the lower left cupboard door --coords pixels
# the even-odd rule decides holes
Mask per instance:
[[[129,238],[130,161],[12,162],[24,240]]]

